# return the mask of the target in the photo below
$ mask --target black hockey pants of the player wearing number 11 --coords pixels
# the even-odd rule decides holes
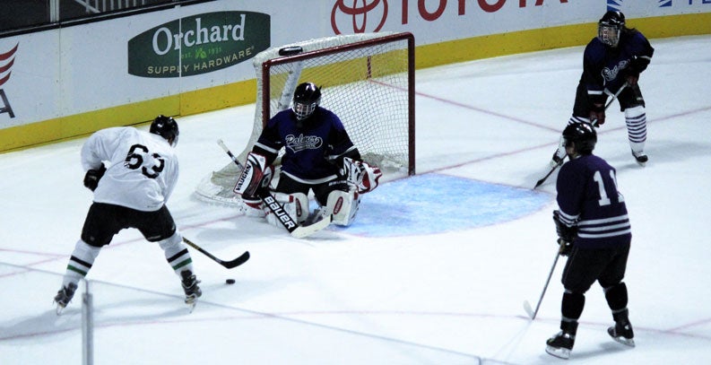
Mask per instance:
[[[627,270],[629,243],[610,248],[573,247],[563,269],[563,286],[566,290],[585,294],[595,281],[603,288],[622,282]]]

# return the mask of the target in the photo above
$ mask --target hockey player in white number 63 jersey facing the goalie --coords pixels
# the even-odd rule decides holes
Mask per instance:
[[[178,135],[175,119],[160,115],[150,132],[131,126],[106,128],[83,144],[84,186],[94,192],[94,199],[55,297],[57,314],[74,297],[100,249],[126,228],[140,230],[145,239],[158,242],[182,281],[186,304],[191,309],[195,306],[202,291],[193,274],[192,258],[165,205],[178,181],[174,150]]]

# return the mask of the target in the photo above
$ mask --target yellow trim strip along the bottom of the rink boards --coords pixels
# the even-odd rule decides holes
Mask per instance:
[[[711,13],[629,19],[627,23],[629,27],[642,30],[649,39],[711,34]],[[595,23],[585,23],[425,45],[415,50],[415,67],[421,69],[494,56],[582,46],[595,36],[596,31]],[[13,126],[0,129],[0,152],[81,137],[109,126],[145,123],[158,114],[187,116],[250,104],[255,100],[256,80],[251,79],[24,126]]]

